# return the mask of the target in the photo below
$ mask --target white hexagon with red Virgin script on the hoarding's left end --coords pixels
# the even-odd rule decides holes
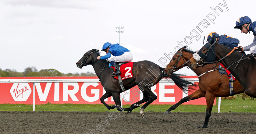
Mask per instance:
[[[27,101],[32,92],[28,83],[13,83],[10,93],[14,101]]]

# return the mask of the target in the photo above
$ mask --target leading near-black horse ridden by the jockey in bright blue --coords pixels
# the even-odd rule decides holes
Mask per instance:
[[[123,92],[119,81],[112,77],[112,71],[109,68],[109,61],[107,60],[97,60],[97,56],[99,56],[99,50],[92,49],[84,54],[84,56],[76,63],[78,68],[82,68],[86,65],[92,65],[94,71],[98,78],[101,81],[101,85],[106,90],[106,93],[100,98],[101,103],[104,104],[108,109],[116,108],[119,111],[127,111],[130,113],[134,108],[140,107],[139,104],[146,102],[140,108],[140,115],[142,118],[144,117],[144,109],[151,104],[157,96],[151,91],[151,87],[157,84],[164,76],[163,70],[157,64],[150,62],[150,61],[140,61],[140,62],[133,62],[133,77],[124,79],[123,86],[125,90],[129,90],[133,86],[138,85],[140,90],[142,91],[144,97],[142,100],[132,104],[129,108],[120,108],[120,93]],[[172,74],[171,76],[167,76],[171,78],[173,82],[179,86],[183,91],[185,87],[188,85],[194,85],[191,82],[186,81],[185,79],[181,79],[181,77],[177,74]],[[105,103],[105,99],[108,97],[113,96],[116,105],[109,106]]]

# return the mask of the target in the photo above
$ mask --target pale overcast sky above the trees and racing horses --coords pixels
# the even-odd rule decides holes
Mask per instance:
[[[178,41],[196,51],[210,32],[238,38],[241,46],[251,44],[252,33],[233,27],[240,16],[255,21],[255,5],[239,0],[1,0],[0,68],[94,72],[92,66],[77,68],[76,62],[105,42],[119,43],[118,26],[124,27],[120,45],[132,51],[134,62],[149,60],[164,67],[159,59],[175,53]],[[217,7],[214,12],[216,6],[222,11]],[[196,75],[187,68],[179,73]]]

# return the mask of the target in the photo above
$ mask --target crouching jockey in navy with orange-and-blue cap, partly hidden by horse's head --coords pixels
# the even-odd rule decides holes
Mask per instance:
[[[216,42],[218,42],[219,44],[222,44],[222,45],[227,46],[229,48],[237,47],[237,45],[239,44],[238,39],[227,36],[226,34],[219,36],[219,34],[215,33],[215,32],[209,33],[209,35],[207,37],[207,41],[210,41],[214,34],[215,34],[215,37],[216,37]]]

